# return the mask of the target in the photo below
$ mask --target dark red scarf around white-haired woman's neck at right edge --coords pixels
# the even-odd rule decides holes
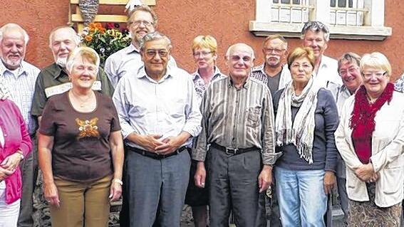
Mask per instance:
[[[361,88],[355,94],[355,104],[351,114],[349,127],[352,129],[352,140],[356,155],[363,164],[368,164],[372,155],[372,133],[375,130],[375,115],[378,110],[393,97],[394,85],[388,83],[383,93],[375,103],[371,104],[366,95],[366,88]]]

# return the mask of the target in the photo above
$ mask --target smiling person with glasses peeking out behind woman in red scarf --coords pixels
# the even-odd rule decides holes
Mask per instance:
[[[338,115],[341,115],[343,103],[351,97],[363,82],[361,70],[359,65],[361,63],[361,56],[356,53],[343,53],[341,58],[338,59],[338,73],[341,76],[343,85],[337,86],[333,83],[328,85],[333,97],[336,100],[338,107]],[[341,202],[343,211],[343,222],[347,225],[348,218],[348,195],[346,194],[346,170],[345,162],[338,153],[336,179],[338,186],[338,195]]]

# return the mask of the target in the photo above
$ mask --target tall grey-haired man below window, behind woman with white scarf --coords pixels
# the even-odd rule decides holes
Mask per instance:
[[[342,85],[338,75],[337,60],[324,55],[330,40],[328,27],[320,21],[308,21],[301,30],[303,46],[313,49],[316,63],[314,65],[314,78],[321,88],[328,88],[328,83]]]

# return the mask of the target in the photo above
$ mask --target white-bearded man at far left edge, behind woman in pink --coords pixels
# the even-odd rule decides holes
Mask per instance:
[[[31,103],[34,82],[39,69],[24,61],[29,36],[16,23],[7,23],[0,28],[0,83],[4,84],[3,93],[19,107],[31,138],[35,136],[36,122],[31,117]],[[1,96],[3,96],[1,94]],[[6,136],[6,135],[5,135]],[[33,139],[34,140],[34,139]],[[33,146],[34,147],[34,146]],[[36,180],[36,152],[33,150],[22,162],[23,188],[19,226],[32,226],[32,194]]]

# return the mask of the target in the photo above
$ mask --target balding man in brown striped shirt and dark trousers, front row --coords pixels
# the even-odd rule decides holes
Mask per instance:
[[[254,51],[244,43],[226,53],[229,77],[214,81],[201,104],[202,132],[192,159],[195,184],[204,187],[209,162],[210,225],[226,226],[232,209],[238,226],[265,223],[259,193],[272,181],[274,112],[271,92],[250,78]],[[261,219],[259,217],[262,217]]]

